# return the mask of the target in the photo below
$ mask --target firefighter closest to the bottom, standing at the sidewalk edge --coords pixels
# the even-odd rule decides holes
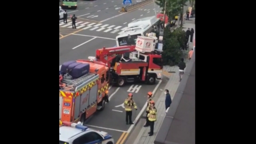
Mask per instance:
[[[147,109],[149,111],[148,113],[148,121],[150,123],[150,132],[148,133],[149,136],[152,136],[154,133],[154,124],[156,121],[156,107],[155,107],[155,101],[152,100],[149,102],[150,107]]]

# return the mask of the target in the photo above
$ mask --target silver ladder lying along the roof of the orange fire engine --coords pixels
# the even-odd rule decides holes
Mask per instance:
[[[74,88],[75,88],[77,85],[79,85],[79,84],[81,84],[81,83],[87,81],[88,79],[92,78],[93,76],[95,76],[95,74],[89,73],[89,74],[86,74],[86,75],[84,75],[84,76],[82,76],[82,77],[79,77],[79,78],[75,79],[74,81],[68,83],[68,84],[64,87],[64,90],[68,90],[68,91],[74,90]]]

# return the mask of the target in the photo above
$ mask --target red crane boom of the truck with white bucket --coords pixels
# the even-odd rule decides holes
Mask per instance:
[[[135,51],[135,45],[125,45],[118,47],[102,47],[96,50],[96,59],[110,66],[110,62],[116,58],[116,54],[124,54],[126,52]]]

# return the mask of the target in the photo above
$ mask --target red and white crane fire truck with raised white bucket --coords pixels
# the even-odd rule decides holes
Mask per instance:
[[[125,83],[143,81],[155,84],[162,78],[163,62],[161,52],[155,50],[157,38],[138,36],[136,45],[126,45],[99,49],[96,57],[110,68],[110,82],[118,86]]]

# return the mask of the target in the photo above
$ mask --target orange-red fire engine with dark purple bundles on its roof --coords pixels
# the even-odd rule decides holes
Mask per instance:
[[[100,62],[64,62],[59,74],[60,122],[84,123],[108,102],[109,68]],[[60,123],[61,124],[61,123]]]

